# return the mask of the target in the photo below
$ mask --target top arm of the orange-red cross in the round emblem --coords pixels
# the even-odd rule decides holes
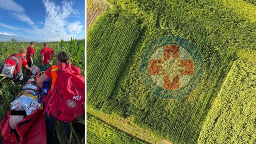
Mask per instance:
[[[176,45],[166,45],[164,46],[164,60],[168,60],[170,58],[170,52],[173,54],[173,58],[179,57],[179,47]]]

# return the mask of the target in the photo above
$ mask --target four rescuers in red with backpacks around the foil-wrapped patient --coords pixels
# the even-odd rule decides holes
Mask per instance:
[[[72,87],[72,84],[76,85],[76,82],[69,82],[69,80],[77,81],[78,83],[84,83],[84,77],[81,76],[80,68],[71,65],[70,56],[65,51],[57,54],[57,64],[51,66],[48,69],[47,65],[49,64],[49,60],[51,60],[55,56],[54,50],[47,47],[47,43],[44,43],[44,48],[40,50],[40,54],[42,60],[42,71],[44,71],[44,73],[37,79],[36,83],[40,88],[42,88],[46,80],[48,80],[49,78],[51,80],[49,94],[44,98],[44,104],[46,109],[45,112],[48,116],[48,118],[46,119],[46,132],[48,134],[52,134],[54,122],[58,119],[62,121],[66,137],[68,137],[68,123],[76,118],[76,116],[82,115],[84,113],[83,110],[81,112],[81,108],[84,109],[84,102],[80,102],[81,96],[82,100],[84,100],[84,96],[83,94],[81,94],[81,92],[84,92],[84,88],[82,88],[82,91],[74,90],[74,88],[81,88],[82,85],[79,84],[80,86]],[[6,58],[4,64],[0,69],[0,72],[6,75],[7,78],[16,79],[17,82],[21,82],[21,84],[24,84],[25,78],[23,77],[23,73],[21,70],[22,66],[26,68],[27,73],[30,72],[30,70],[32,69],[31,58],[34,58],[34,55],[34,42],[30,42],[30,46],[27,49],[22,47],[19,53],[11,54],[9,58]],[[65,72],[61,73],[60,70]],[[60,76],[58,77],[58,75],[60,74],[62,75],[61,78]],[[68,87],[62,88],[62,92],[59,92],[61,89],[60,83],[62,83],[62,80],[63,82],[66,81],[68,83],[66,84],[68,85]],[[66,96],[65,94],[69,95]],[[56,97],[56,95],[59,96]]]

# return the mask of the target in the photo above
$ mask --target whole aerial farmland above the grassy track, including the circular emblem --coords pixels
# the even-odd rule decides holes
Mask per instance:
[[[155,143],[256,142],[255,2],[106,2],[87,32],[89,107],[165,139]]]

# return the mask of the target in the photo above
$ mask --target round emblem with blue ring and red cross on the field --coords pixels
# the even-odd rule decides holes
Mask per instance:
[[[202,57],[197,48],[179,36],[154,40],[141,57],[142,80],[162,98],[188,95],[200,82],[202,72]]]

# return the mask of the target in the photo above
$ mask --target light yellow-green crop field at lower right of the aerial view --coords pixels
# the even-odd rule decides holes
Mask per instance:
[[[256,65],[236,60],[206,116],[199,144],[256,144]]]

